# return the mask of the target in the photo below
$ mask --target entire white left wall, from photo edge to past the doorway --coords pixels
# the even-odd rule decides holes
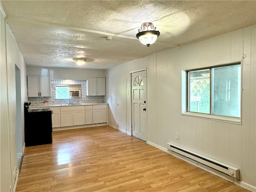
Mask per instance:
[[[14,191],[18,174],[16,148],[16,77],[15,65],[20,69],[22,106],[22,141],[24,143],[24,107],[26,97],[26,65],[10,28],[1,19],[1,63],[0,63],[0,191]],[[17,182],[17,180],[16,180]]]

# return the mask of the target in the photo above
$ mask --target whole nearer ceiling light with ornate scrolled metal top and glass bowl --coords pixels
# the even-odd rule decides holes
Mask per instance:
[[[148,30],[148,28],[150,30]],[[156,27],[154,27],[152,22],[143,23],[138,31],[139,32],[136,34],[136,37],[140,40],[142,44],[148,47],[156,42],[156,39],[160,35],[160,32],[156,31]]]

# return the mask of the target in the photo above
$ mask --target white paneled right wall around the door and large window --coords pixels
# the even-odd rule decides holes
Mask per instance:
[[[118,123],[119,130],[130,134],[131,98],[126,86],[130,89],[130,72],[147,68],[148,143],[166,149],[171,142],[237,167],[241,180],[237,184],[256,190],[255,37],[252,25],[108,69],[109,125],[117,128]],[[241,60],[242,125],[181,116],[181,70]]]

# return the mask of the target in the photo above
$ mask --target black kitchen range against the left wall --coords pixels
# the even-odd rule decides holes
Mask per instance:
[[[52,143],[52,110],[30,109],[30,103],[24,103],[25,146]]]

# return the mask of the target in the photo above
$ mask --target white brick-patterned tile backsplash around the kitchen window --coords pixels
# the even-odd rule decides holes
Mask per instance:
[[[54,104],[64,104],[68,103],[69,99],[55,99],[55,86],[56,85],[81,85],[81,95],[82,98],[79,99],[70,99],[71,103],[104,103],[104,96],[86,96],[86,80],[51,80],[51,97],[29,97],[28,101],[31,104],[40,104],[44,103],[45,100],[48,103]]]

